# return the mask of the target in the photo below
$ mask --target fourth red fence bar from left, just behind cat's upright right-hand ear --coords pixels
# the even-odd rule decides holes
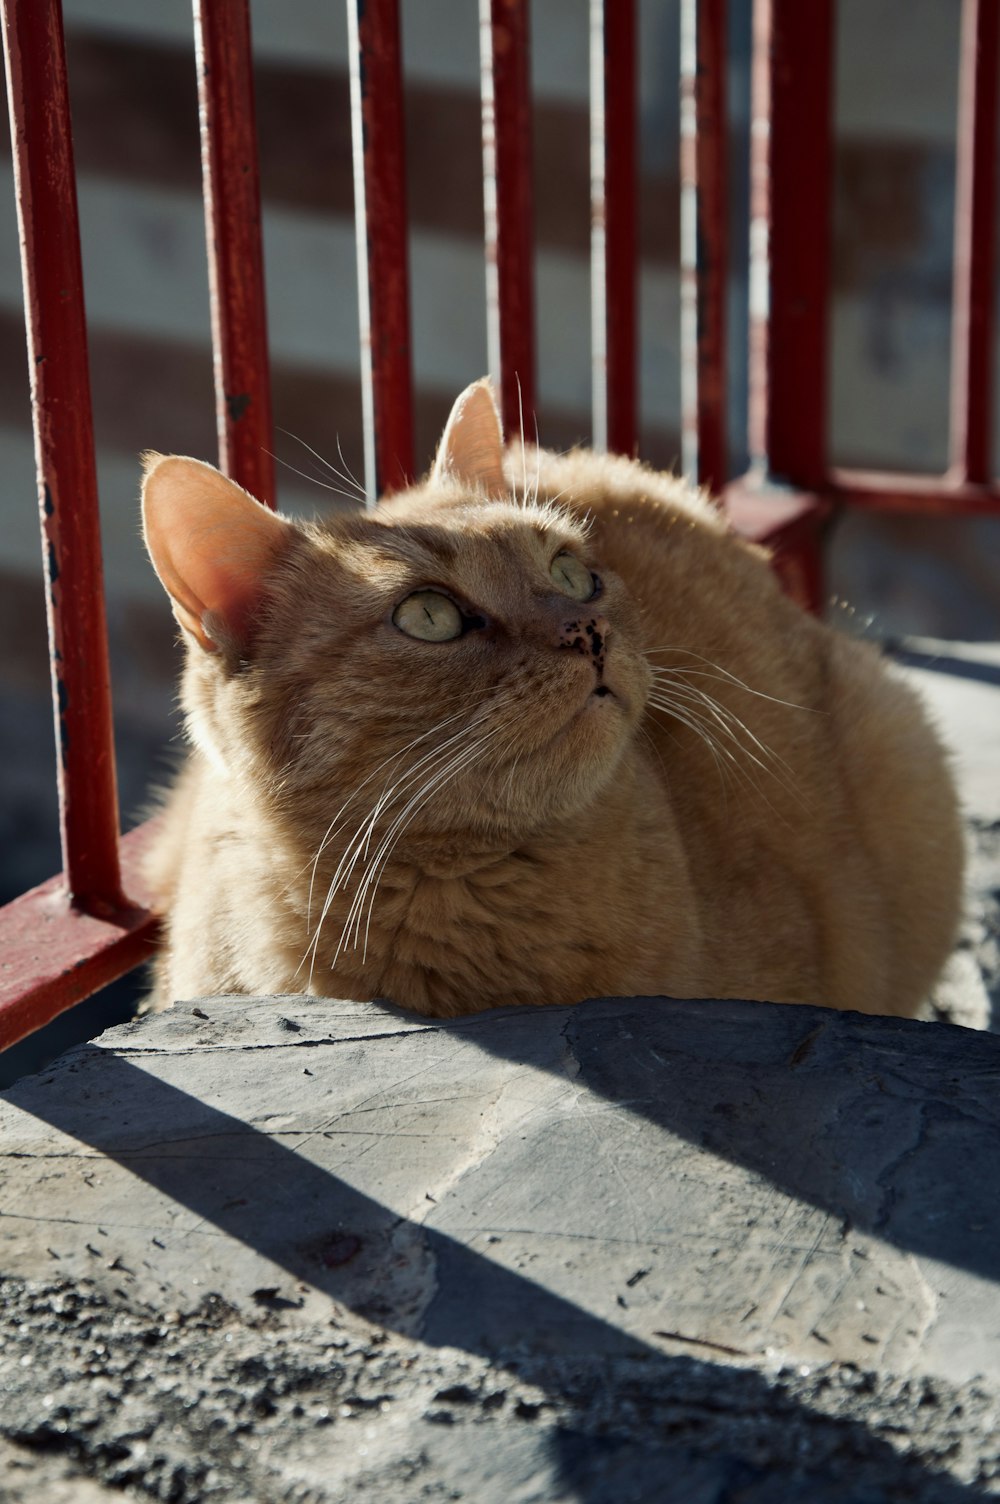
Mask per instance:
[[[535,411],[528,11],[528,0],[480,0],[487,341],[507,433]]]

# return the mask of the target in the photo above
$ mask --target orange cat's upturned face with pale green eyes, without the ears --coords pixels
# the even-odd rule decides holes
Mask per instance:
[[[358,519],[347,543],[313,535],[286,741],[299,773],[331,799],[368,779],[373,803],[405,781],[414,832],[580,809],[648,693],[621,582],[555,508],[420,510]]]

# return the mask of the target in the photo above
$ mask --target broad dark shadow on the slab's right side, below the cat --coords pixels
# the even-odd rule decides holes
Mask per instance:
[[[997,1281],[1000,1319],[1000,1038],[780,1003],[564,1012],[577,1086],[850,1227]],[[523,1059],[523,1033],[498,1024],[444,1027]]]

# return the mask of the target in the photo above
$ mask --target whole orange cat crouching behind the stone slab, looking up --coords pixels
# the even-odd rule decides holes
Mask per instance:
[[[684,483],[504,453],[489,384],[424,484],[298,525],[147,456],[194,750],[156,1002],[609,994],[910,1014],[952,945],[938,741]]]

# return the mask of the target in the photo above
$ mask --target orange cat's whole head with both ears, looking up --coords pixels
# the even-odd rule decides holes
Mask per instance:
[[[146,541],[183,629],[192,738],[248,790],[349,832],[373,817],[517,836],[585,808],[650,674],[570,502],[508,478],[486,382],[457,400],[427,481],[331,522],[150,456]]]

